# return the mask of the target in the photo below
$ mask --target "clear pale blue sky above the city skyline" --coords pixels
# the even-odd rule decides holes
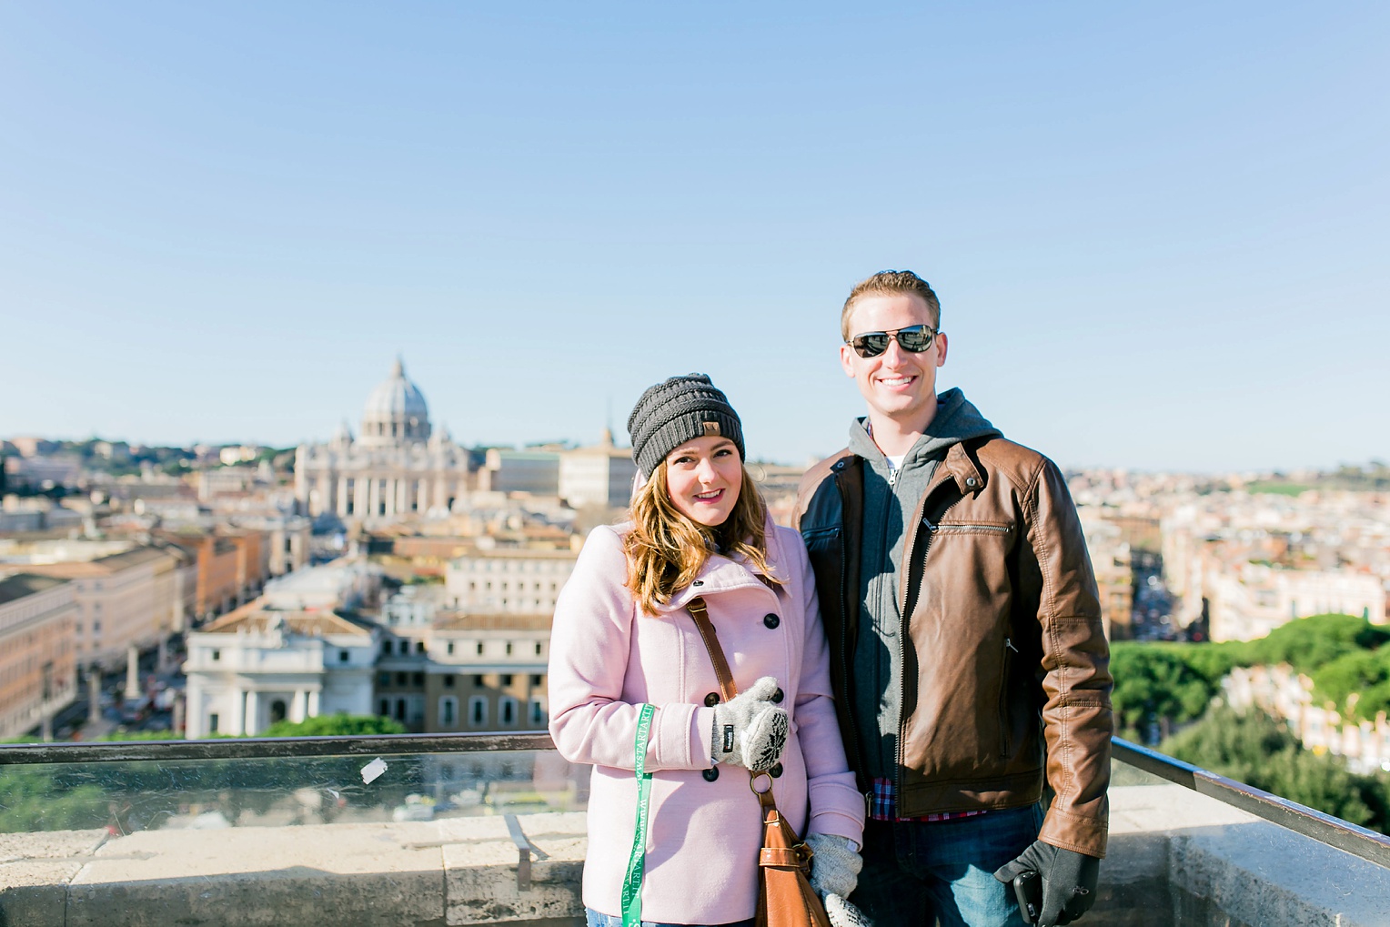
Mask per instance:
[[[0,6],[0,435],[292,445],[404,357],[467,443],[708,371],[862,411],[909,267],[1069,466],[1390,457],[1390,7]]]

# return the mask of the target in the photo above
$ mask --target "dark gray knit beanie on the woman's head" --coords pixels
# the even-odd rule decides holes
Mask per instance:
[[[728,438],[739,459],[746,460],[738,413],[705,374],[671,377],[649,388],[627,418],[627,434],[644,477],[651,477],[666,454],[706,435]]]

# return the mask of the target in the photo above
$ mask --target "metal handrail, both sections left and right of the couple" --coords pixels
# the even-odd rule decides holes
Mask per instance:
[[[356,737],[243,737],[203,741],[111,741],[90,744],[6,744],[0,766],[46,763],[125,763],[168,760],[257,760],[310,756],[403,756],[411,753],[492,753],[503,750],[553,750],[545,731],[480,734],[364,734]],[[1168,780],[1200,795],[1238,807],[1262,820],[1287,827],[1319,844],[1334,846],[1366,862],[1390,869],[1390,837],[1358,827],[1340,817],[1270,795],[1262,789],[1175,760],[1138,744],[1115,738],[1113,756],[1138,770]]]

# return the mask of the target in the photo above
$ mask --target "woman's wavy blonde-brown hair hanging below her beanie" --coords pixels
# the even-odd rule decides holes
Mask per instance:
[[[767,506],[748,468],[741,470],[738,502],[724,524],[712,528],[691,521],[671,502],[664,460],[632,496],[628,507],[632,530],[623,549],[627,552],[627,588],[644,614],[655,616],[657,606],[688,586],[710,550],[726,556],[741,553],[763,575],[781,584],[767,566]]]

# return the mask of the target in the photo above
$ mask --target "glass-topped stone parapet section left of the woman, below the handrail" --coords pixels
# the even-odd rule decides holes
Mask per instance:
[[[588,771],[553,750],[0,766],[0,923],[580,927]]]

